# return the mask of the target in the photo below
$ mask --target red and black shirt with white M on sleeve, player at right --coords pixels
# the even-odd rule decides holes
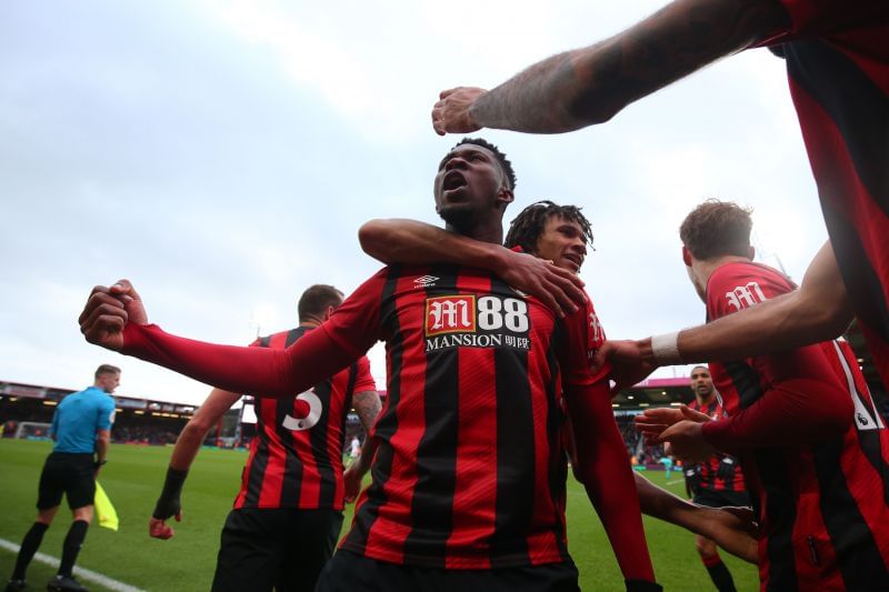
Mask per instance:
[[[707,285],[708,319],[791,290],[789,280],[766,265],[725,264]],[[851,400],[848,409],[855,409],[845,433],[811,433],[807,441],[762,443],[741,454],[762,524],[762,590],[872,590],[889,582],[889,435],[851,350],[845,348],[831,341],[710,364],[730,415],[791,392],[803,395],[797,401],[815,404],[838,389]],[[778,419],[788,431],[800,429],[791,413]],[[705,430],[708,440],[711,435]]]

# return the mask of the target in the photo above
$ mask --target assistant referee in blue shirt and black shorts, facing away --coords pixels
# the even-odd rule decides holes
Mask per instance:
[[[59,510],[62,493],[68,498],[68,506],[74,514],[74,521],[62,544],[59,573],[49,581],[47,589],[79,592],[87,590],[74,580],[71,571],[92,521],[96,478],[106,463],[111,423],[114,421],[114,400],[110,393],[114,392],[119,383],[120,369],[102,364],[96,370],[96,382],[92,387],[69,394],[56,408],[51,428],[56,444],[40,473],[37,520],[21,543],[7,592],[24,589],[24,572]]]

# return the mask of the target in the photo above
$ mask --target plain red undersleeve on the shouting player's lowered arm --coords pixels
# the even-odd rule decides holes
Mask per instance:
[[[592,387],[565,384],[571,424],[577,430],[575,475],[583,483],[602,521],[623,578],[655,581],[639,498],[627,449],[620,438],[605,381]]]

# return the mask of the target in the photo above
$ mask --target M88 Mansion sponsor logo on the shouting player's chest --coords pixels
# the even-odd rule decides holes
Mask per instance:
[[[455,294],[426,301],[426,351],[458,345],[530,349],[528,303],[518,298]]]

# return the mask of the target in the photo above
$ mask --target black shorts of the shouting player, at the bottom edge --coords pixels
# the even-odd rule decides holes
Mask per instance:
[[[399,565],[339,551],[316,592],[579,592],[577,568],[570,561],[527,568],[446,570]]]

